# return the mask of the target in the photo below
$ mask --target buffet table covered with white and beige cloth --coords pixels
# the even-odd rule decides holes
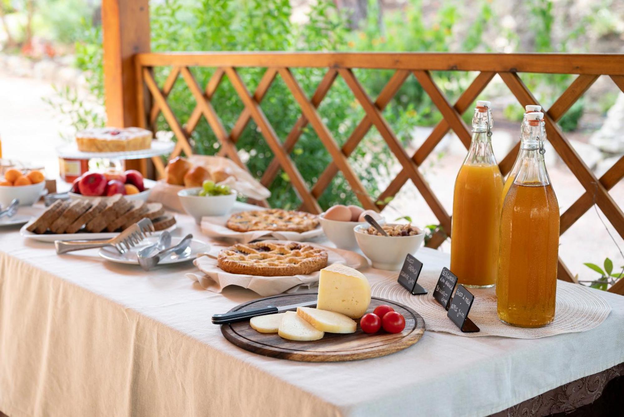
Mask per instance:
[[[192,218],[177,219],[174,235],[209,241]],[[522,340],[426,331],[371,360],[266,358],[210,323],[258,298],[250,290],[203,290],[184,275],[196,270],[190,262],[144,272],[97,250],[56,255],[18,230],[0,230],[0,411],[10,417],[481,416],[624,362],[624,297],[606,292],[612,312],[583,333]],[[428,248],[417,257],[423,274],[449,263]],[[396,280],[363,272],[371,285]]]

